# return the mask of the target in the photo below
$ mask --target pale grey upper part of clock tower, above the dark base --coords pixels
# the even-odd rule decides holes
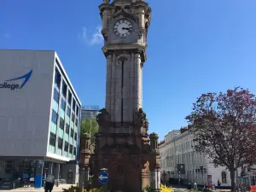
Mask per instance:
[[[107,58],[106,109],[120,125],[142,108],[143,63],[151,9],[142,0],[114,0],[100,5],[103,53]]]

